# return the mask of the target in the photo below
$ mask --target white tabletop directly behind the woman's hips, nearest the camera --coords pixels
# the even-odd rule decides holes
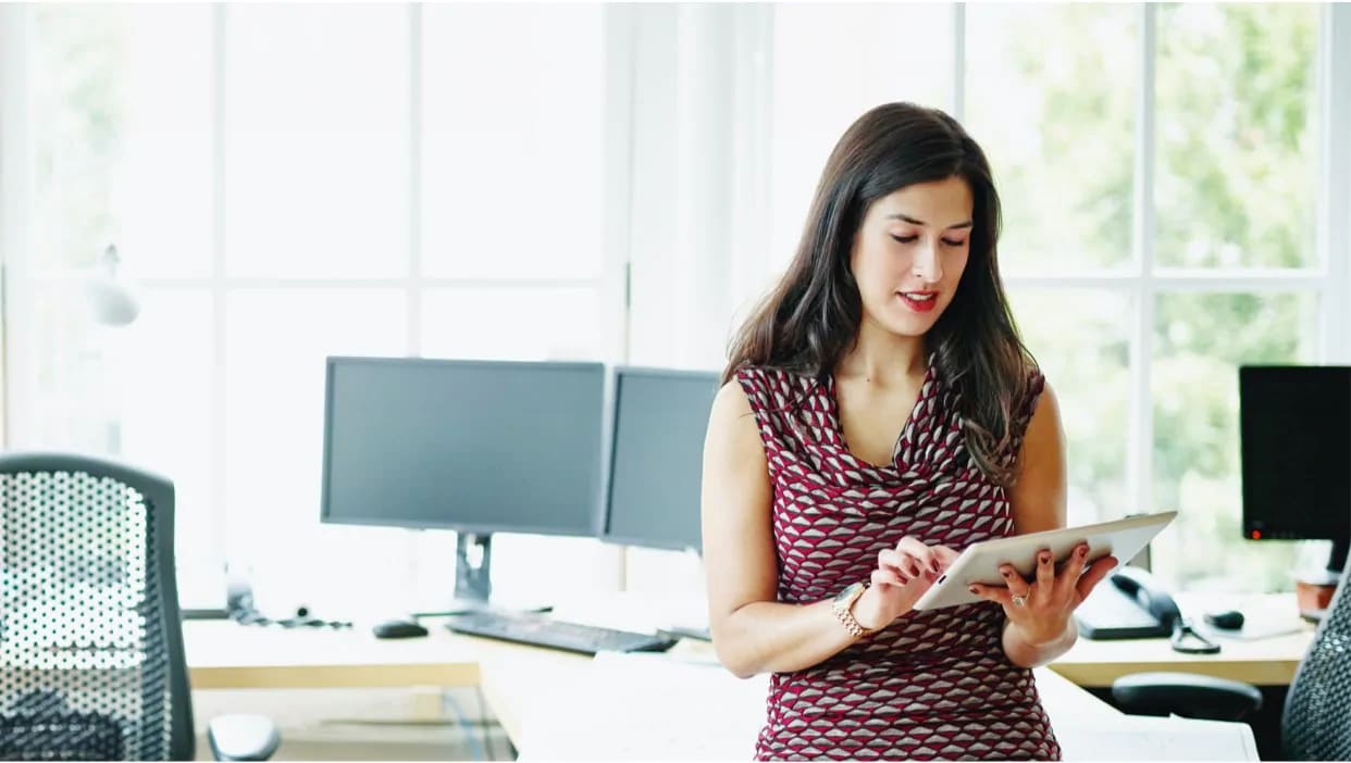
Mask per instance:
[[[523,698],[521,760],[747,760],[769,677],[746,681],[686,655],[597,656],[574,681]],[[1244,724],[1124,716],[1047,668],[1043,706],[1065,760],[1256,760]]]

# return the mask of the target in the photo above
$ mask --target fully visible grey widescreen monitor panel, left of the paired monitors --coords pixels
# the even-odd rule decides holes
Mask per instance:
[[[601,363],[330,358],[323,521],[594,535]]]

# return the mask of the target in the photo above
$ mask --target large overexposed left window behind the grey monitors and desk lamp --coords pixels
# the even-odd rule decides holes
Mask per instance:
[[[172,475],[188,604],[220,601],[227,562],[277,606],[443,604],[453,535],[317,524],[324,358],[613,359],[604,8],[39,4],[27,24],[15,288],[36,321],[11,444]],[[108,243],[142,286],[123,328],[81,302]],[[499,590],[539,596],[509,563],[539,543],[497,544]],[[550,543],[582,562],[546,589],[611,583],[594,542]]]

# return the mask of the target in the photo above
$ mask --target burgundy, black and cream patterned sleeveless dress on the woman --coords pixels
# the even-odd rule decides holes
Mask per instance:
[[[850,454],[835,381],[743,369],[773,482],[778,600],[866,581],[905,535],[957,551],[1013,535],[1008,496],[970,461],[957,392],[929,363],[893,461]],[[1015,412],[1017,452],[1043,389]],[[825,662],[770,679],[757,759],[1059,759],[1032,679],[1004,654],[993,602],[911,612]]]

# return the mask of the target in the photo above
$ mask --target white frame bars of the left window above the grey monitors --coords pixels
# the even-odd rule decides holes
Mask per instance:
[[[550,289],[550,288],[593,288],[603,302],[603,327],[627,327],[626,274],[630,248],[630,201],[631,182],[631,124],[632,124],[632,11],[627,7],[608,7],[605,11],[605,46],[609,57],[605,68],[607,96],[607,177],[605,177],[605,226],[603,269],[598,277],[581,278],[438,278],[420,274],[422,269],[422,186],[423,186],[423,9],[417,3],[404,4],[409,28],[408,63],[405,84],[409,88],[409,134],[408,134],[408,184],[409,184],[409,258],[408,270],[396,278],[305,278],[277,277],[251,278],[231,277],[226,262],[226,158],[230,151],[226,138],[226,36],[228,34],[230,7],[224,3],[212,5],[212,234],[209,274],[199,278],[143,278],[141,286],[147,292],[197,292],[209,294],[211,300],[211,439],[209,439],[209,515],[213,521],[213,542],[211,548],[195,548],[216,569],[224,569],[231,551],[224,547],[226,525],[230,521],[226,506],[226,339],[227,300],[239,290],[258,289],[343,289],[343,290],[388,290],[400,289],[407,298],[405,342],[411,355],[420,355],[423,347],[423,294],[428,290],[446,288],[459,289]],[[0,393],[4,396],[0,415],[0,436],[4,443],[26,443],[30,413],[24,401],[32,398],[32,390],[26,379],[34,367],[36,348],[31,336],[14,327],[15,316],[31,316],[32,285],[35,278],[42,282],[74,281],[80,273],[31,271],[31,224],[34,201],[32,167],[32,103],[31,80],[27,66],[30,55],[28,36],[31,16],[26,4],[0,4],[0,280],[3,280],[3,300],[0,300],[0,328],[4,334],[3,358],[0,358]],[[11,159],[18,157],[16,161]],[[16,330],[18,328],[18,330]],[[134,327],[132,327],[134,330]],[[627,359],[627,330],[617,330],[603,339],[601,357],[607,362]],[[9,371],[5,374],[4,371]],[[317,509],[317,506],[316,506]],[[317,510],[316,510],[317,516]],[[409,533],[408,551],[416,550],[415,533]]]

